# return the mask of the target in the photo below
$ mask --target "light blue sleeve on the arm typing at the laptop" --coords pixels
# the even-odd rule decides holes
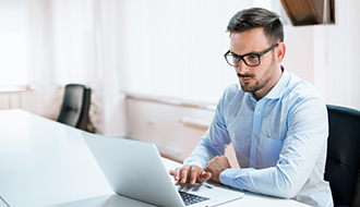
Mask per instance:
[[[184,160],[184,165],[196,165],[205,168],[206,163],[215,156],[223,156],[225,154],[225,148],[230,143],[223,115],[226,94],[227,90],[218,101],[211,126],[192,154]]]

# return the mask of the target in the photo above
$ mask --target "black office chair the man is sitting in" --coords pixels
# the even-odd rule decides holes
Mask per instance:
[[[327,105],[325,180],[335,206],[360,206],[360,111]]]

